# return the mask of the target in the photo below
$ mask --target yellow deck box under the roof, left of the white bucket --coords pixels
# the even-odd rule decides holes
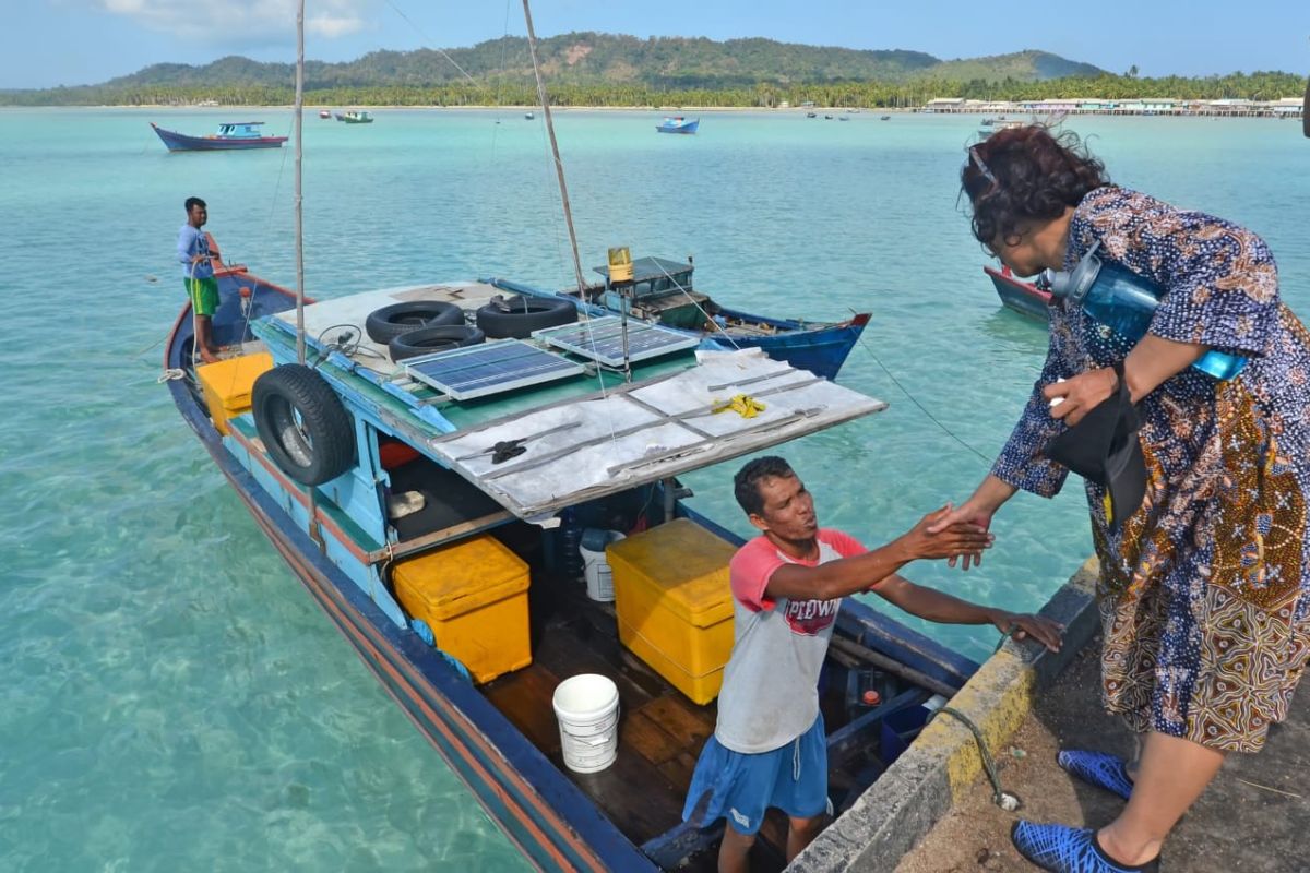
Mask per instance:
[[[528,565],[495,537],[400,561],[392,580],[401,606],[427,622],[436,647],[466,666],[474,682],[532,664]]]

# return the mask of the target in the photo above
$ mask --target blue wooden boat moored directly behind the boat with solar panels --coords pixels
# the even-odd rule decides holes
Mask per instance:
[[[693,288],[696,267],[690,260],[638,258],[633,279],[622,288],[609,283],[609,267],[595,267],[604,281],[559,294],[507,279],[489,279],[493,285],[534,297],[565,296],[591,315],[626,313],[648,325],[686,331],[701,348],[760,348],[766,355],[824,378],[836,378],[846,356],[859,342],[869,313],[841,322],[774,318],[731,309]]]

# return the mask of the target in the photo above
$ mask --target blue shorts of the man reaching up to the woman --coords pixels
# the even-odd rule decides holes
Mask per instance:
[[[683,821],[709,827],[726,818],[736,832],[752,835],[769,806],[793,818],[814,818],[828,809],[828,733],[821,715],[773,751],[732,751],[710,737],[696,762]]]

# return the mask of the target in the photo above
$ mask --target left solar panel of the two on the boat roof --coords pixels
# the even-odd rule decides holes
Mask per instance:
[[[586,372],[582,364],[517,339],[409,357],[401,364],[410,377],[456,401],[512,391]]]

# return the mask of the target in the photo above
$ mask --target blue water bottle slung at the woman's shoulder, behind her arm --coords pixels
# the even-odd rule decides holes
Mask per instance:
[[[1131,270],[1096,257],[1098,241],[1069,272],[1047,270],[1041,284],[1056,297],[1068,300],[1120,336],[1137,342],[1150,329],[1151,315],[1163,296],[1159,285]],[[1192,369],[1224,381],[1242,372],[1246,359],[1210,349]]]

